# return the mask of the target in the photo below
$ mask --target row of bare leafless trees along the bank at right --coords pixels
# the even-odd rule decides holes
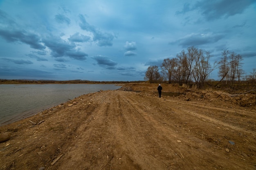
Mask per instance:
[[[219,86],[228,85],[231,88],[238,82],[241,83],[241,78],[245,74],[243,71],[243,58],[240,54],[228,51],[222,51],[220,61],[213,64],[210,63],[211,54],[209,51],[198,49],[190,46],[182,50],[174,58],[166,58],[162,65],[149,66],[144,80],[150,83],[164,82],[182,84],[196,84],[197,88],[203,89],[206,82],[209,80],[209,75],[215,69],[218,69],[218,77],[220,81],[215,84]],[[256,69],[254,68],[252,75],[247,76],[247,80],[255,81]]]

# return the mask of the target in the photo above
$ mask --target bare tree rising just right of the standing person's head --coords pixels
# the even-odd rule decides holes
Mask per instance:
[[[164,59],[162,65],[161,65],[162,73],[168,79],[169,84],[171,83],[171,79],[172,79],[175,67],[177,67],[177,58]]]

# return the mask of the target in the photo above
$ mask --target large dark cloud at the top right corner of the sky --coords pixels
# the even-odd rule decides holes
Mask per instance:
[[[182,11],[177,11],[176,14],[184,14],[189,11],[197,10],[206,20],[216,20],[222,17],[229,17],[243,11],[253,4],[255,0],[201,0],[191,5],[184,4]]]

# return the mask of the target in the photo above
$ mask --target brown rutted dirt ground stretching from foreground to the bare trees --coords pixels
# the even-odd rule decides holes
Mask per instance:
[[[162,86],[161,98],[157,84],[127,84],[1,126],[0,170],[256,170],[256,95]]]

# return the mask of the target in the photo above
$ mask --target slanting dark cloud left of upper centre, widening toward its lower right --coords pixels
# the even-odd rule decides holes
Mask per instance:
[[[85,31],[89,31],[93,34],[93,41],[96,42],[98,46],[112,46],[114,35],[111,33],[103,33],[97,30],[94,26],[90,25],[83,15],[79,15],[80,23],[79,26]]]

